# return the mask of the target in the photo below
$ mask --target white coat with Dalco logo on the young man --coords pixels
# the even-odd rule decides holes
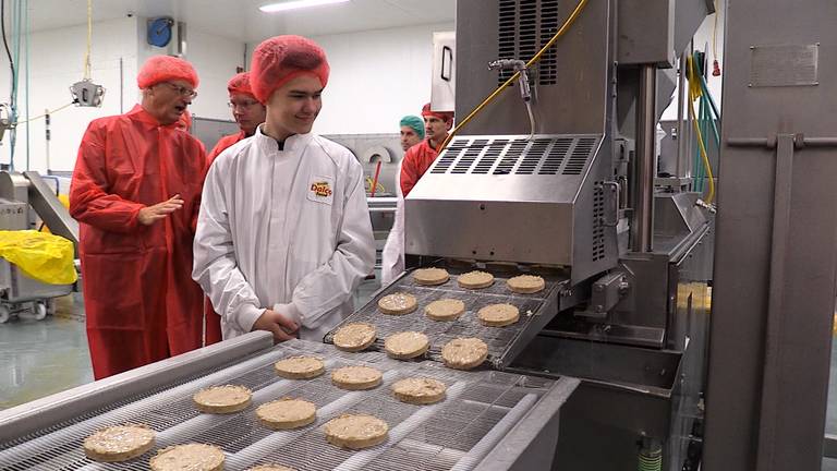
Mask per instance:
[[[204,183],[192,277],[221,315],[225,339],[251,331],[265,309],[320,341],[352,313],[372,273],[363,170],[343,146],[315,134],[284,149],[257,129],[222,152]]]

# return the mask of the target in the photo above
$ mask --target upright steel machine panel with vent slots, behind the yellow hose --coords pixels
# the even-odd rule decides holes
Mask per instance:
[[[459,0],[457,17],[469,20],[457,22],[457,116],[466,116],[511,75],[508,71],[487,72],[488,62],[530,60],[574,8],[575,2],[558,0]],[[571,33],[533,68],[535,133],[605,132],[612,64],[608,57],[609,9],[608,1],[589,2]],[[526,108],[519,90],[509,89],[498,96],[490,112],[474,118],[464,131],[529,133]]]

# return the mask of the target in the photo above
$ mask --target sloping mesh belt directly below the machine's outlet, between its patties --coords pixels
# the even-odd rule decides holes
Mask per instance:
[[[555,302],[560,289],[567,279],[544,277],[546,287],[534,294],[521,294],[512,292],[506,281],[508,278],[495,274],[494,285],[488,288],[470,290],[460,288],[457,283],[458,274],[450,271],[450,279],[439,286],[421,286],[413,281],[412,271],[380,290],[362,309],[345,318],[325,336],[325,341],[333,342],[335,333],[343,325],[351,323],[368,323],[376,327],[378,338],[374,347],[384,350],[384,341],[391,334],[404,330],[424,333],[430,339],[430,348],[426,358],[441,361],[441,348],[450,340],[458,337],[476,337],[488,346],[488,363],[496,369],[501,369],[513,359],[515,346],[525,342],[533,337],[549,321],[550,313],[557,310],[549,309],[550,302]],[[405,315],[383,314],[378,310],[378,300],[395,292],[413,294],[418,301],[418,307]],[[424,314],[424,307],[430,302],[442,299],[458,299],[465,303],[465,312],[452,322],[436,322]],[[486,327],[480,323],[477,312],[480,309],[495,303],[509,303],[520,310],[520,321],[506,327]]]

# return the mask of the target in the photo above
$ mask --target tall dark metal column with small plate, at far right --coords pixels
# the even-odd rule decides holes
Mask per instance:
[[[704,469],[820,469],[837,282],[837,46],[832,2],[727,5]],[[777,49],[778,50],[778,49]],[[757,61],[771,63],[755,63]],[[752,86],[752,71],[776,80]],[[813,112],[813,110],[818,112]],[[824,137],[809,137],[810,135]],[[830,148],[829,148],[830,147]]]

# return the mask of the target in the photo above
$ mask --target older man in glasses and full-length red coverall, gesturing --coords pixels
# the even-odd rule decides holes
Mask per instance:
[[[90,122],[78,147],[70,214],[96,379],[201,347],[191,273],[206,150],[180,124],[197,82],[189,62],[149,58],[142,104]]]

